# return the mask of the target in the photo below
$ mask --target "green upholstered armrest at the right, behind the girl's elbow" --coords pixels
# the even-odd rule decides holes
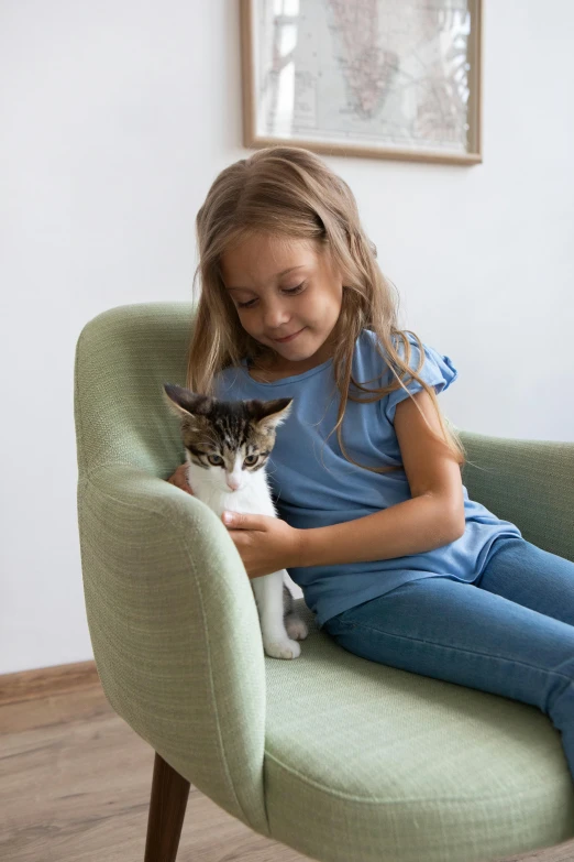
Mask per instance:
[[[522,536],[574,560],[574,443],[462,432],[468,497],[516,524]]]

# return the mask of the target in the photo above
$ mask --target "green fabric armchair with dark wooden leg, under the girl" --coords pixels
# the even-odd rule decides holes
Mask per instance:
[[[145,862],[176,859],[189,784],[324,862],[487,862],[574,836],[559,732],[536,707],[379,665],[310,625],[267,658],[219,519],[164,481],[162,397],[185,385],[192,306],[112,308],[75,359],[87,618],[112,708],[155,751]],[[574,559],[574,444],[462,433],[472,498]]]

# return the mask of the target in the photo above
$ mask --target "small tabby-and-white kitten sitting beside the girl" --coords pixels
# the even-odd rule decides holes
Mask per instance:
[[[187,479],[194,495],[218,517],[224,510],[277,517],[266,462],[275,429],[287,418],[292,399],[219,401],[164,384],[165,400],[181,419]],[[260,615],[263,647],[274,658],[297,658],[297,641],[308,629],[294,610],[285,583],[287,571],[251,579]]]

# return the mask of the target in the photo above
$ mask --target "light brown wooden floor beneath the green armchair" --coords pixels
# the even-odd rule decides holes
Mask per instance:
[[[48,685],[41,672],[0,677],[3,862],[143,861],[154,752],[112,711],[95,670],[77,667]],[[177,862],[306,859],[191,786]],[[574,841],[505,862],[518,860],[573,862]]]

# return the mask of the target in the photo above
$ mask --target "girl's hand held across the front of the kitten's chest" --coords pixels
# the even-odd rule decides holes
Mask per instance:
[[[227,522],[227,515],[233,520]],[[221,517],[250,578],[299,565],[300,530],[271,515],[223,512]]]

